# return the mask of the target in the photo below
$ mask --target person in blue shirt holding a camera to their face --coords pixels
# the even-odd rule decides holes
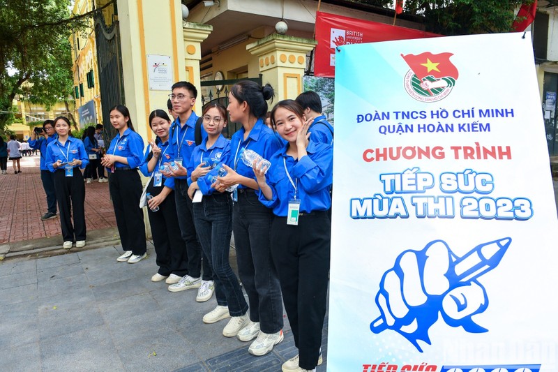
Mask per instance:
[[[32,149],[40,150],[40,180],[43,181],[43,188],[47,194],[47,213],[43,214],[41,220],[48,220],[50,218],[56,217],[56,193],[54,192],[54,179],[52,173],[48,170],[45,159],[47,156],[47,145],[50,142],[56,140],[56,132],[54,132],[54,127],[52,126],[54,121],[45,120],[43,123],[43,132],[35,133],[31,132],[31,139],[29,140],[29,146]],[[43,136],[37,138],[37,136]]]

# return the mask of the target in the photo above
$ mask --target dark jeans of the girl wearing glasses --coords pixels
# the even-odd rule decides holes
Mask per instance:
[[[198,191],[199,192],[199,191]],[[248,304],[229,263],[232,232],[232,200],[229,193],[204,195],[193,203],[197,237],[213,269],[215,297],[220,306],[229,306],[231,316],[241,316]]]

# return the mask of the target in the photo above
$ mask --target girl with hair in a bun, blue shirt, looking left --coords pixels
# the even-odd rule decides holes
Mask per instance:
[[[254,171],[240,160],[241,149],[252,149],[270,158],[280,146],[273,131],[264,124],[267,102],[273,88],[260,87],[251,81],[234,84],[229,93],[230,120],[242,128],[231,138],[231,156],[225,177],[218,177],[214,187],[223,192],[238,184],[233,193],[232,230],[236,244],[239,276],[248,294],[250,322],[239,331],[241,341],[253,341],[248,348],[252,355],[265,355],[283,340],[283,317],[279,279],[271,260],[269,232],[273,214],[258,201]]]

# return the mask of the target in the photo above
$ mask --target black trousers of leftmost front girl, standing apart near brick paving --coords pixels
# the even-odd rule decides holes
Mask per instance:
[[[72,177],[66,177],[66,171],[63,169],[56,170],[52,174],[52,181],[58,209],[60,210],[63,240],[85,240],[85,186],[80,168],[73,169]]]

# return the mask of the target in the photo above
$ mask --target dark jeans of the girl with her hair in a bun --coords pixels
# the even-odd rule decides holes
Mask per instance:
[[[239,201],[233,205],[232,230],[239,276],[250,303],[250,320],[259,322],[262,332],[276,333],[283,327],[283,310],[269,244],[273,214],[253,190],[239,190],[238,195]]]

